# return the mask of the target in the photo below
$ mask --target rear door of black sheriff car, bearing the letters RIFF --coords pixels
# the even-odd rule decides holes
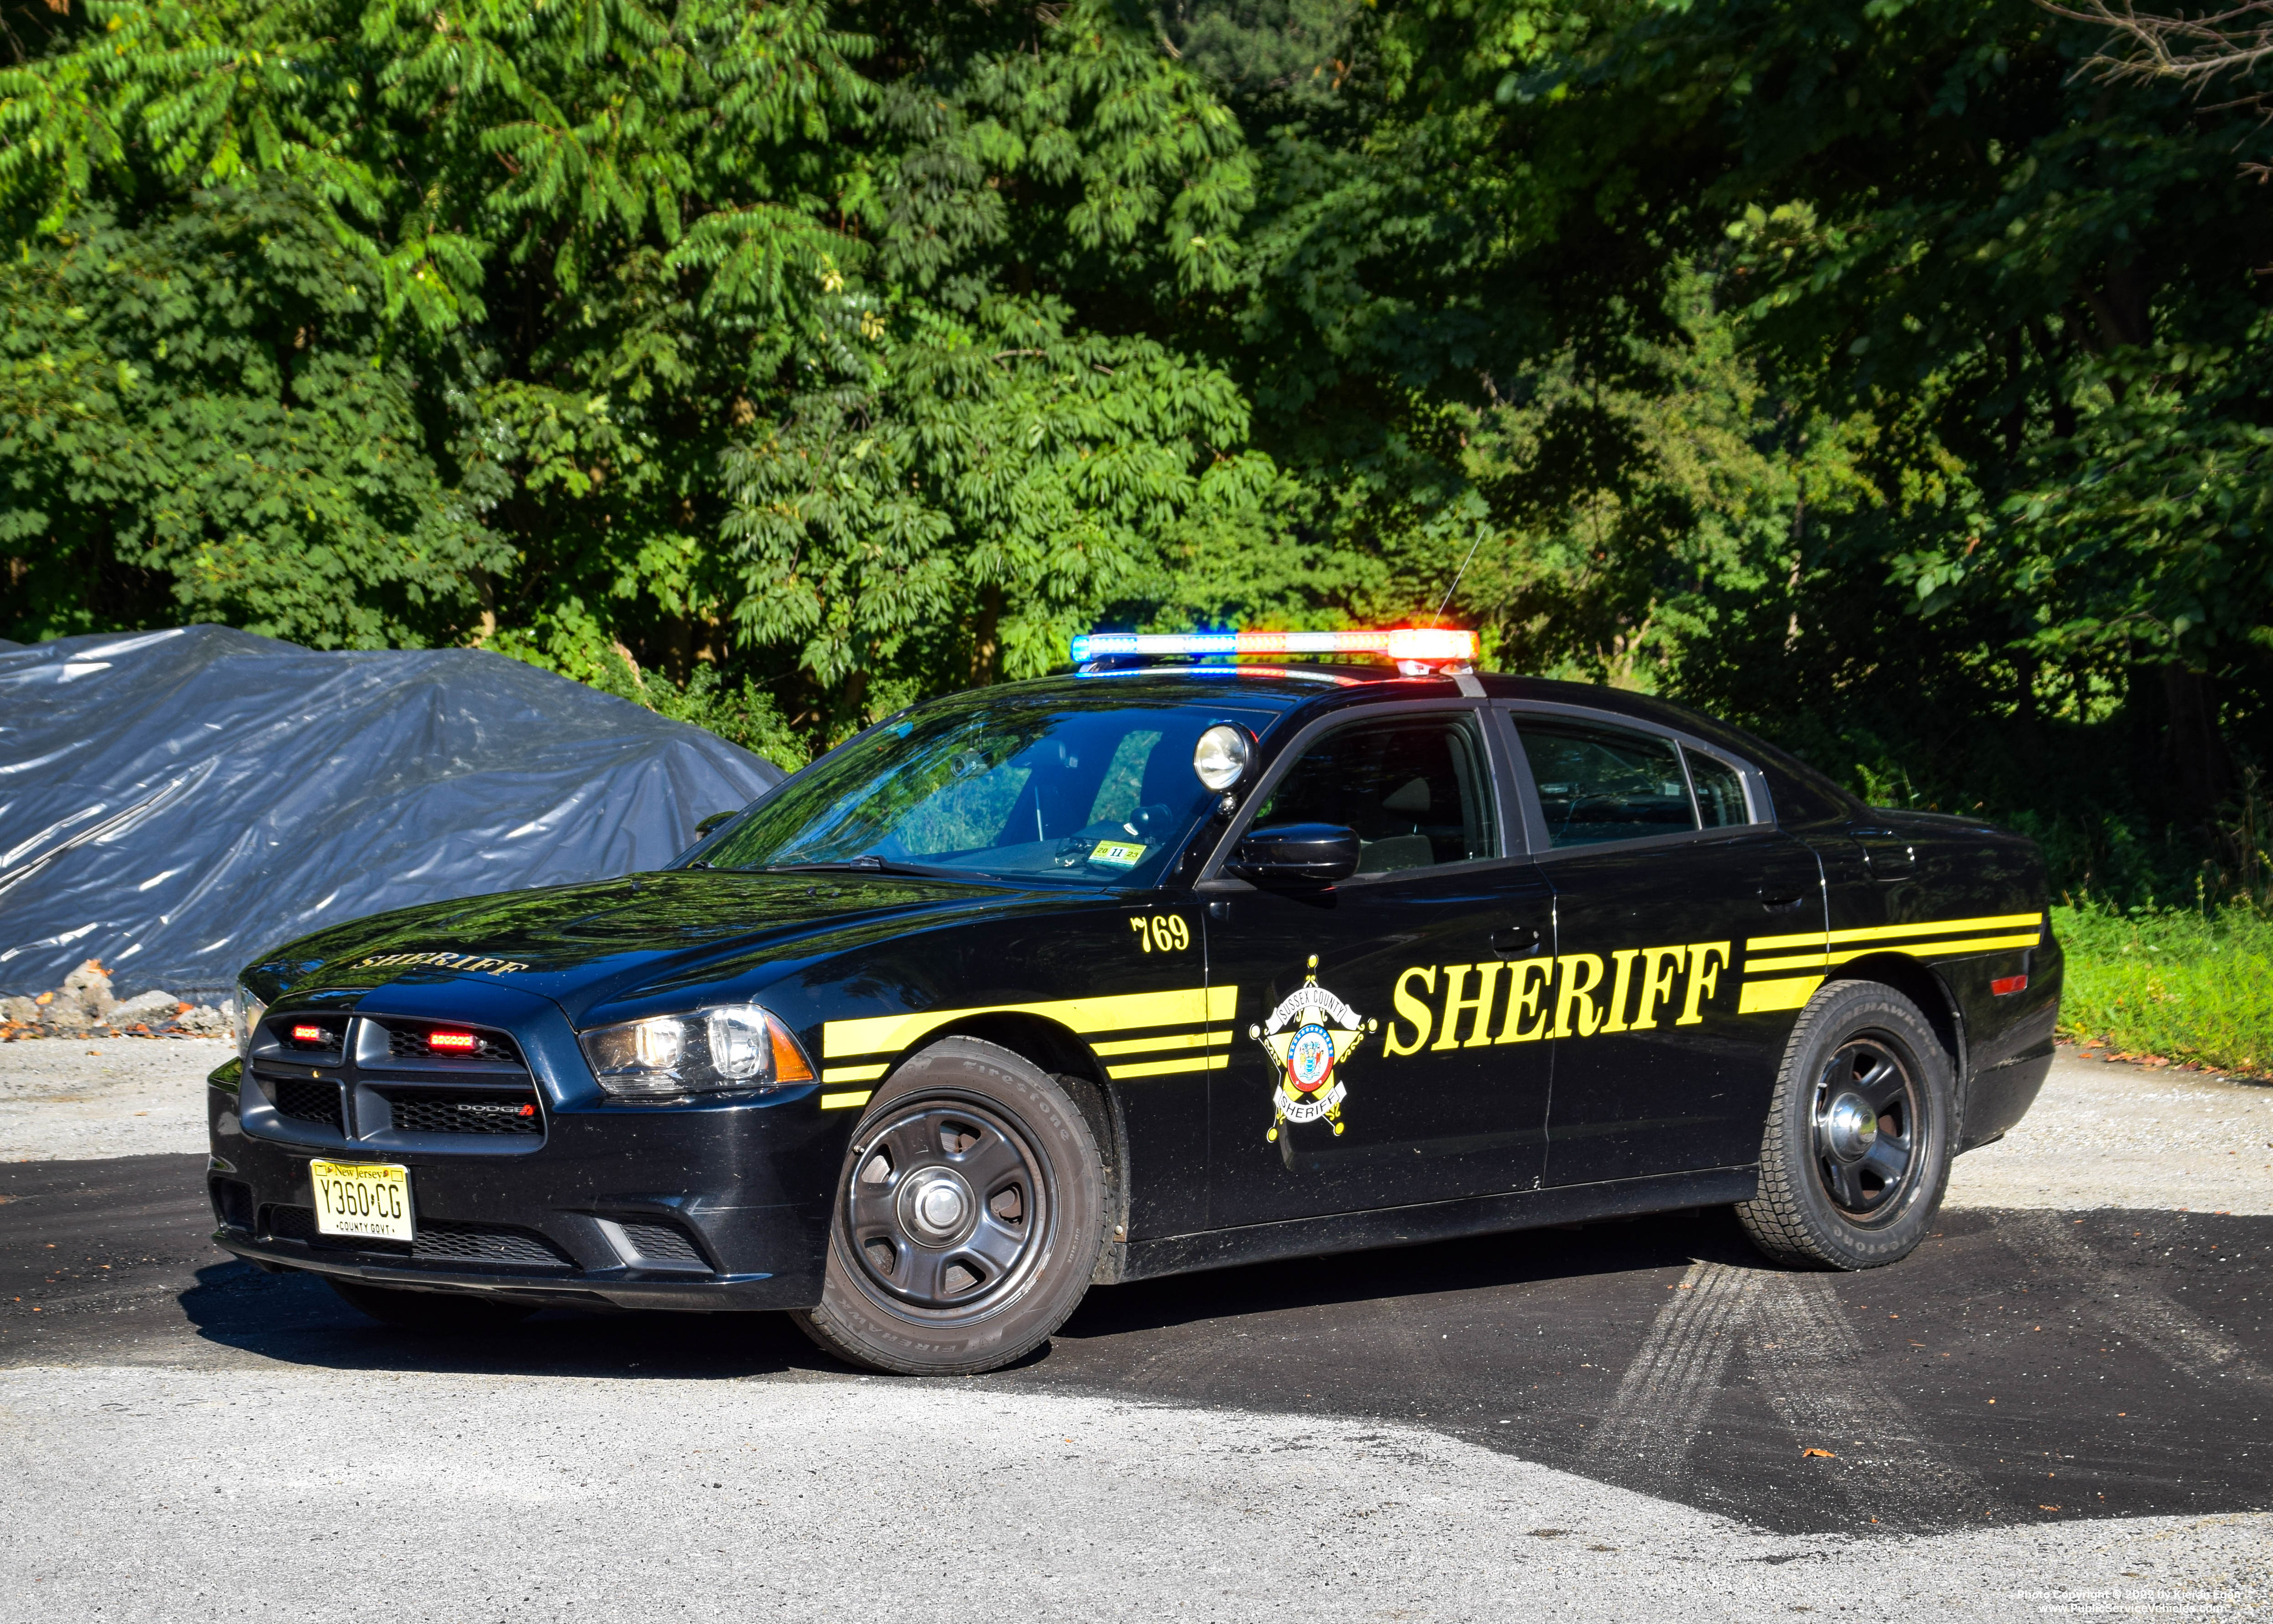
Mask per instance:
[[[1757,1162],[1798,1010],[1762,1008],[1777,996],[1746,969],[1821,951],[1814,853],[1725,751],[1571,707],[1507,716],[1555,892],[1546,1183]]]

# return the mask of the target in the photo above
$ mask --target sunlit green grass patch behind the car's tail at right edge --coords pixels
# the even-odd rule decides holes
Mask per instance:
[[[2053,910],[2068,953],[2059,1028],[2125,1055],[2273,1076],[2273,917],[2218,910]]]

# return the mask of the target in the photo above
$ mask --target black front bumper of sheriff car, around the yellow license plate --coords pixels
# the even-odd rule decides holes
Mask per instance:
[[[548,1099],[543,1142],[511,1153],[352,1144],[273,1112],[248,1130],[236,1062],[207,1094],[214,1242],[248,1262],[584,1308],[821,1301],[846,1124],[811,1087],[684,1108]],[[316,1235],[314,1158],[409,1167],[418,1246]]]

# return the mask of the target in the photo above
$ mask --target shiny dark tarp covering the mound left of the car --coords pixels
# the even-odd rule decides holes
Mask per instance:
[[[89,958],[120,994],[225,987],[341,919],[655,869],[780,780],[468,648],[191,625],[0,651],[0,994]]]

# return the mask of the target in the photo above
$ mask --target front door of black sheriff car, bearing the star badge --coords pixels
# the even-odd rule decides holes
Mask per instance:
[[[1239,987],[1212,1085],[1214,1228],[1537,1187],[1548,1046],[1512,1042],[1502,1014],[1514,971],[1552,958],[1548,892],[1507,855],[1509,764],[1484,721],[1325,726],[1248,828],[1355,828],[1357,876],[1202,885],[1209,987]]]

